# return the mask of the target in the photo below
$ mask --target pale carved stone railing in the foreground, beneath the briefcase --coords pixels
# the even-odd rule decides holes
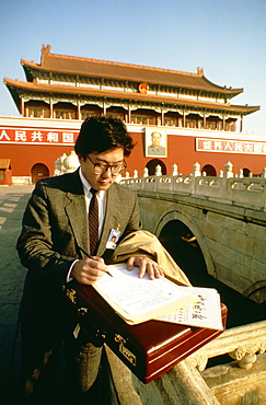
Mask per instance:
[[[248,369],[252,370],[252,364],[256,360],[256,354],[263,354],[265,349],[266,321],[233,327],[147,385],[131,375],[130,371],[114,354],[108,350],[107,355],[119,404],[218,405],[220,402],[199,372],[205,369],[208,358],[229,354],[238,360],[242,369],[246,370],[243,370],[243,372],[247,375]],[[238,369],[233,368],[232,370],[235,370],[235,374],[238,374]],[[257,394],[261,391],[263,397],[265,384],[261,384],[259,381],[264,380],[264,363],[261,367],[261,373],[263,373],[263,377],[257,375],[255,390]],[[236,384],[236,377],[233,377],[234,389],[240,390],[239,397],[242,397],[245,386],[243,387],[241,383]],[[245,384],[246,379],[244,378],[243,381]],[[234,396],[238,396],[235,391]],[[235,401],[230,402],[230,404],[236,403],[239,404]],[[253,405],[254,402],[245,402],[245,404]]]

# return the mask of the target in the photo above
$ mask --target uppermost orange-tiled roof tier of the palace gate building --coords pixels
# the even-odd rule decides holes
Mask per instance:
[[[228,89],[213,84],[204,76],[204,70],[200,68],[198,68],[197,73],[187,73],[147,66],[57,55],[50,54],[49,45],[46,47],[43,46],[41,65],[24,59],[21,59],[21,63],[28,81],[34,80],[37,71],[46,71],[192,89],[201,92],[224,94],[229,99],[243,92],[243,89]]]

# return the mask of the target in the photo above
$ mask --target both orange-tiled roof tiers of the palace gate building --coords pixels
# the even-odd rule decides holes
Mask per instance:
[[[56,55],[50,53],[50,46],[43,46],[41,63],[34,61],[21,60],[24,68],[27,82],[11,80],[4,78],[4,83],[9,88],[18,107],[20,95],[31,95],[37,97],[53,97],[59,100],[73,100],[74,97],[90,101],[106,97],[108,101],[119,100],[119,102],[130,101],[134,103],[151,104],[153,106],[165,105],[174,108],[189,108],[189,111],[222,112],[225,114],[247,115],[259,109],[259,106],[231,105],[228,100],[243,92],[243,89],[232,89],[219,86],[209,81],[204,76],[204,70],[198,68],[197,73],[186,73],[169,69],[152,68],[138,65],[120,63],[105,60],[72,57],[66,55]],[[66,80],[62,84],[43,84],[37,79],[58,78]],[[85,82],[106,82],[119,83],[122,89],[93,89],[90,86],[67,85],[67,81]],[[140,83],[148,83],[150,88],[161,89],[163,94],[155,92],[129,92],[126,89],[127,83],[138,89]],[[116,86],[114,84],[114,89]],[[123,85],[122,85],[123,84]],[[165,95],[169,92],[169,96]],[[178,93],[173,96],[171,93]],[[187,97],[188,95],[188,97]],[[189,99],[189,95],[195,96]],[[198,97],[198,99],[197,99]],[[200,99],[200,100],[199,100]],[[212,101],[204,100],[212,99]],[[35,99],[36,100],[36,99]],[[216,100],[220,100],[216,102]],[[221,102],[223,101],[223,102]]]

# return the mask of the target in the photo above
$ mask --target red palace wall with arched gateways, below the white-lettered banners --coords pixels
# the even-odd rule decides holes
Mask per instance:
[[[131,155],[126,159],[130,175],[134,170],[138,170],[139,175],[152,158],[144,157],[144,134],[131,132],[137,144]],[[206,135],[207,136],[207,135]],[[221,137],[221,134],[217,134]],[[233,136],[233,134],[231,134]],[[49,175],[54,174],[56,159],[62,153],[69,154],[73,146],[56,144],[14,144],[1,143],[0,158],[11,159],[11,170],[13,176],[31,176],[31,170],[34,164],[43,163],[48,166]],[[199,152],[196,151],[196,140],[194,136],[167,135],[167,158],[160,158],[166,166],[166,174],[171,174],[172,165],[178,166],[178,172],[190,174],[193,164],[199,162],[201,169],[205,164],[212,165],[217,175],[220,170],[224,170],[224,163],[228,161],[233,164],[233,172],[238,173],[240,169],[248,169],[253,174],[261,174],[266,166],[266,155],[225,153],[225,152]]]

